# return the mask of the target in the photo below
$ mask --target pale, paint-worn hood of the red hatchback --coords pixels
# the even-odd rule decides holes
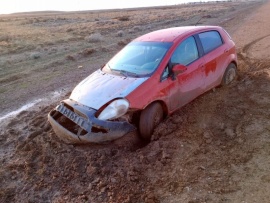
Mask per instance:
[[[74,88],[70,99],[98,110],[112,99],[126,97],[147,79],[122,77],[97,70]]]

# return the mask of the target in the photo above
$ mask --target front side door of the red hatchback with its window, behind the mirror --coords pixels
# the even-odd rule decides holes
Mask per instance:
[[[196,41],[193,36],[187,38],[176,48],[171,57],[172,66],[182,64],[187,67],[171,80],[170,109],[184,106],[204,92],[204,59],[199,57]]]

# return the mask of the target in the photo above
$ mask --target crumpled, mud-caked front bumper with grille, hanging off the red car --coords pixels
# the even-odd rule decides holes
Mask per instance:
[[[56,135],[68,144],[112,141],[136,129],[127,121],[99,120],[95,113],[95,109],[67,99],[48,114],[48,120]]]

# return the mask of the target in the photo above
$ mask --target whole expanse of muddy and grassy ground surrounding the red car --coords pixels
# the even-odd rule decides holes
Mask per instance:
[[[0,17],[0,202],[270,200],[270,2]],[[47,113],[131,39],[164,27],[224,26],[239,77],[168,117],[144,144],[66,145]],[[53,91],[62,90],[53,97]],[[49,97],[49,98],[48,98]]]

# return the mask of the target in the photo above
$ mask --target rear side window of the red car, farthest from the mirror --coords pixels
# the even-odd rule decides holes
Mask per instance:
[[[208,53],[223,44],[220,34],[217,31],[203,32],[199,34],[204,53]]]

